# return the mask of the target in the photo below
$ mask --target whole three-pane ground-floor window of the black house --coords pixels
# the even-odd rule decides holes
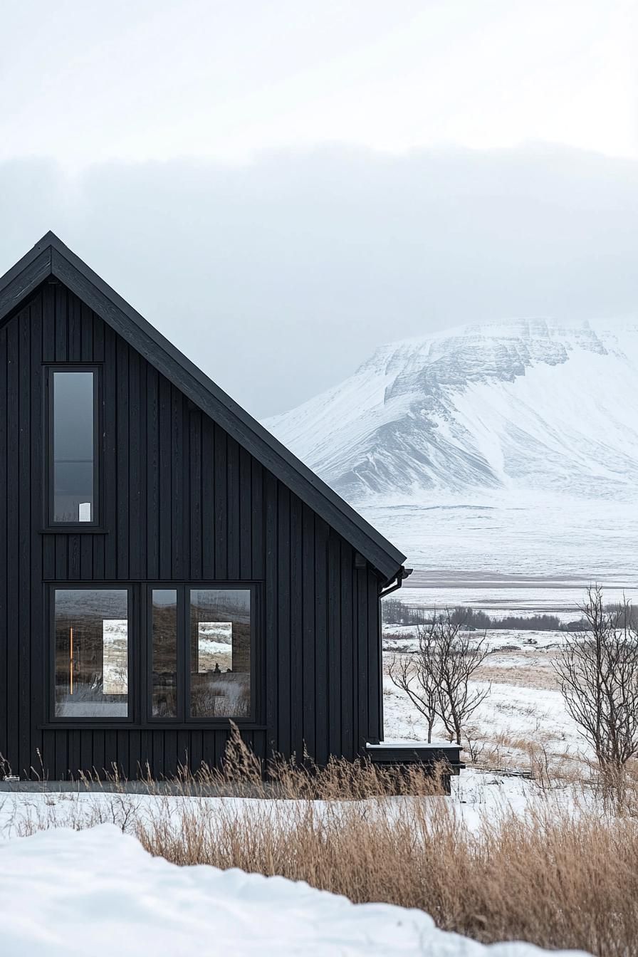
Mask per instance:
[[[253,719],[255,587],[61,588],[56,719]]]

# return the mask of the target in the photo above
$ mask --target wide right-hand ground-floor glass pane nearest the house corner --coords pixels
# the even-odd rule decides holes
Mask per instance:
[[[190,715],[251,714],[251,592],[190,591]]]

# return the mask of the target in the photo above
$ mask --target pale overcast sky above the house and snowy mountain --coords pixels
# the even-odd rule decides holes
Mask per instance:
[[[0,271],[55,230],[251,412],[387,340],[638,314],[638,5],[21,0]]]

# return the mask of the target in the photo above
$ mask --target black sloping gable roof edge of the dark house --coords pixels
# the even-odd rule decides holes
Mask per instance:
[[[338,531],[386,581],[396,576],[406,556],[146,322],[54,233],[44,235],[31,252],[0,278],[0,323],[50,276],[90,306],[191,402]]]

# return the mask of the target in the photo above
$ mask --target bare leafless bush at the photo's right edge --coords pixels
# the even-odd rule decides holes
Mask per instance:
[[[587,590],[586,630],[568,634],[555,662],[567,711],[602,771],[617,775],[638,752],[638,632],[629,603],[605,608]]]

